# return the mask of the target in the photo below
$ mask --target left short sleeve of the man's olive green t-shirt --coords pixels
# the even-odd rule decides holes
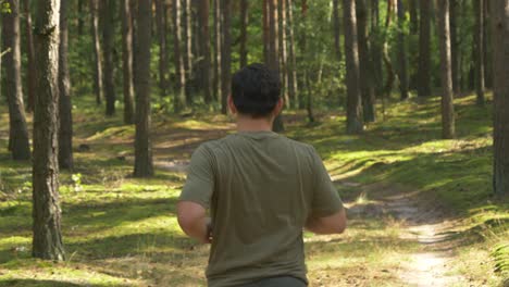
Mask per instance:
[[[209,209],[214,190],[213,163],[212,152],[203,145],[193,153],[179,201],[196,202]]]

